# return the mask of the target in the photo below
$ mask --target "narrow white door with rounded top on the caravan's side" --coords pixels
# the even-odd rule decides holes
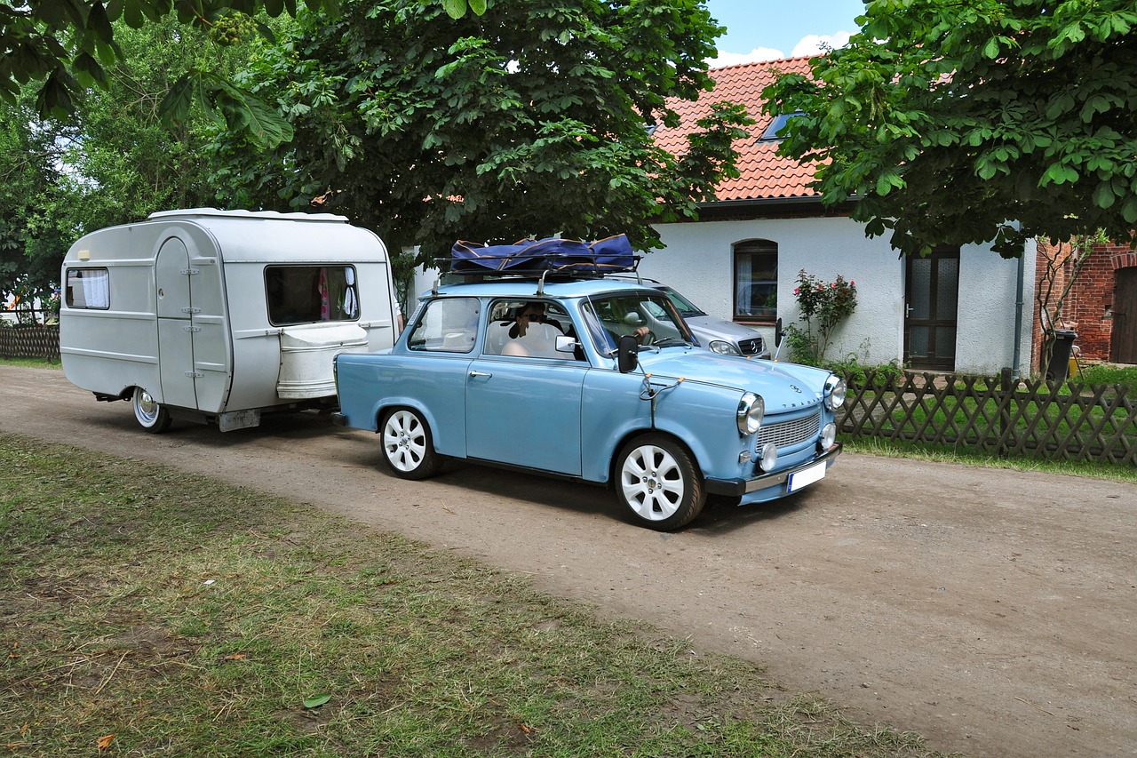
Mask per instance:
[[[224,411],[229,340],[219,261],[191,256],[185,241],[173,237],[158,250],[156,280],[163,403],[208,413]]]

